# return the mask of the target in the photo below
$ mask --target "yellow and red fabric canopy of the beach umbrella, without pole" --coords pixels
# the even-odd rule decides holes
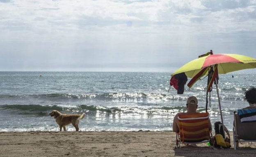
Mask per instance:
[[[218,73],[224,74],[242,69],[256,68],[256,59],[237,54],[211,54],[188,62],[172,73],[171,76],[185,72],[187,77],[194,77],[204,68],[206,68],[206,71],[203,75],[208,75],[207,67],[215,64],[218,64]]]

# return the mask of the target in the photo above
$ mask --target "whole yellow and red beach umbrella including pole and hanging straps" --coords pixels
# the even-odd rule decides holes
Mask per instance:
[[[180,75],[185,75],[186,77],[192,78],[188,82],[187,86],[189,88],[197,82],[204,75],[208,75],[207,83],[207,93],[212,89],[213,82],[216,84],[217,96],[219,102],[219,110],[221,115],[221,121],[223,124],[221,105],[219,100],[219,90],[218,90],[218,74],[225,74],[232,71],[238,71],[242,69],[256,68],[256,59],[248,57],[245,55],[238,54],[213,54],[213,51],[198,56],[197,59],[188,62],[187,64],[181,66],[178,70],[171,74],[170,85],[175,84],[175,77]],[[178,77],[177,77],[178,78]],[[178,81],[177,81],[178,82]],[[177,86],[177,85],[176,85]],[[175,87],[175,85],[174,85]],[[176,88],[177,89],[177,88]],[[184,89],[183,89],[184,91]],[[206,99],[206,112],[207,112],[208,100]]]

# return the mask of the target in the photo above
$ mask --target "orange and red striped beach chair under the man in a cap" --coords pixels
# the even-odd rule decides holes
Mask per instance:
[[[176,135],[176,148],[182,144],[199,144],[213,139],[209,130],[209,113],[179,114],[179,130]]]

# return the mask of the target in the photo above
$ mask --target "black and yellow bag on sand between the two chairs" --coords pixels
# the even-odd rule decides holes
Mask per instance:
[[[214,123],[214,146],[221,148],[231,148],[229,130],[221,122]],[[228,136],[225,138],[225,132]]]

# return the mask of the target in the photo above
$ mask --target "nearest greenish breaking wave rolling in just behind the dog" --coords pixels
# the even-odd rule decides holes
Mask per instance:
[[[107,106],[89,106],[89,105],[78,105],[78,106],[57,106],[57,105],[2,105],[0,106],[2,111],[11,111],[19,114],[33,114],[33,115],[48,115],[50,111],[57,110],[62,113],[75,114],[75,113],[123,113],[123,114],[151,114],[151,115],[176,115],[178,112],[186,112],[185,107],[181,106],[154,106],[154,107],[139,107],[139,106],[119,106],[119,107],[107,107]],[[198,108],[199,112],[204,112],[205,108]],[[233,114],[234,109],[224,108],[224,114]],[[219,114],[218,108],[210,108],[208,112],[211,115]]]

